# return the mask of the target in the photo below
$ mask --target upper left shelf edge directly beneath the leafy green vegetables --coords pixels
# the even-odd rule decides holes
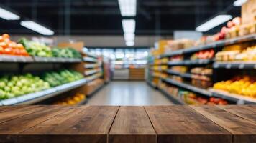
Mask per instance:
[[[76,63],[81,62],[80,58],[59,58],[59,57],[33,57],[35,62],[58,62],[58,63]]]

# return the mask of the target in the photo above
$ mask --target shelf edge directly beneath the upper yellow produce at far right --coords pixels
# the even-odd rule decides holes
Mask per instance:
[[[256,61],[217,61],[214,69],[256,69]]]

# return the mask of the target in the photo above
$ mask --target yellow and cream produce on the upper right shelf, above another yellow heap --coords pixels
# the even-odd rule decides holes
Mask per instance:
[[[256,46],[226,46],[216,54],[216,61],[256,61]]]

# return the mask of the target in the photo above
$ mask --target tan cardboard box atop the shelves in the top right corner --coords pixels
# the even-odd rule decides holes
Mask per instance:
[[[242,24],[256,21],[256,0],[248,0],[242,5]]]

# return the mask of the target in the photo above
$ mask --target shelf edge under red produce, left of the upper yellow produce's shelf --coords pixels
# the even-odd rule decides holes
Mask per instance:
[[[213,59],[196,59],[196,60],[184,60],[184,61],[169,61],[169,66],[181,66],[181,65],[199,65],[210,64]]]

